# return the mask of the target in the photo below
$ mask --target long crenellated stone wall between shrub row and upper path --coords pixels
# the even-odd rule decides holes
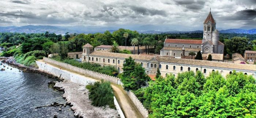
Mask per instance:
[[[106,75],[106,74],[94,72],[94,71],[87,70],[87,69],[78,68],[78,67],[72,66],[70,64],[55,61],[55,60],[52,60],[52,59],[46,58],[46,57],[44,57],[44,61],[46,63],[52,63],[52,64],[55,64],[55,65],[61,66],[63,68],[68,68],[68,69],[74,70],[75,72],[86,74],[87,76],[91,76],[91,77],[94,77],[94,78],[97,78],[97,79],[103,79],[103,80],[106,80],[106,81],[110,81],[114,84],[122,85],[122,82],[117,77],[109,76],[109,75]]]

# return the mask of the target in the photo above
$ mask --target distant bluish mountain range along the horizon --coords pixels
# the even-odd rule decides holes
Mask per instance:
[[[170,30],[168,27],[162,27],[165,31],[158,31],[159,26],[156,25],[142,25],[134,27],[125,27],[125,29],[137,30],[139,33],[202,33],[202,30],[195,31],[177,31]],[[10,27],[0,27],[0,32],[18,32],[18,33],[44,33],[46,31],[50,33],[63,34],[66,32],[69,33],[103,33],[106,30],[114,32],[118,30],[117,27],[101,27],[101,26],[71,26],[71,27],[59,27],[59,26],[49,26],[49,25],[26,25],[22,27],[10,26]],[[170,29],[170,28],[169,28]],[[220,30],[220,33],[246,33],[246,34],[256,34],[256,29],[227,29]]]

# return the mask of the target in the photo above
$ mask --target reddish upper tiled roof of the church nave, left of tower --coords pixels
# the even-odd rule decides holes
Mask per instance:
[[[189,40],[189,39],[166,39],[167,43],[177,43],[177,44],[202,44],[202,40]]]

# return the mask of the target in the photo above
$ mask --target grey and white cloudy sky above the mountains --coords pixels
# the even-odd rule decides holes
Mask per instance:
[[[256,0],[0,0],[0,26],[155,25],[202,30],[210,8],[217,29],[256,28]]]

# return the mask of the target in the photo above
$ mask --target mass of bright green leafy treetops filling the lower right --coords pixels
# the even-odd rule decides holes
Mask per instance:
[[[256,82],[252,76],[233,72],[226,79],[219,72],[204,78],[197,71],[159,77],[135,91],[152,118],[256,117]]]

